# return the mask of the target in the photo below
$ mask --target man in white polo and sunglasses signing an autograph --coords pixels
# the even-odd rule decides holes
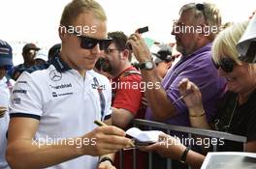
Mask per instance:
[[[122,129],[93,123],[111,124],[110,82],[92,70],[111,42],[106,20],[94,0],[69,3],[60,52],[16,81],[7,148],[12,168],[112,169],[112,154],[131,144]]]

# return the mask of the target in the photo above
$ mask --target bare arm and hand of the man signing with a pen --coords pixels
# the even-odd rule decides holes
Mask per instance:
[[[128,147],[130,139],[117,127],[97,127],[74,140],[90,140],[81,147],[74,144],[44,144],[32,139],[39,121],[32,118],[11,119],[8,135],[7,160],[12,168],[46,168],[81,155],[106,155]],[[76,143],[76,141],[75,141]],[[18,159],[18,160],[16,160]]]

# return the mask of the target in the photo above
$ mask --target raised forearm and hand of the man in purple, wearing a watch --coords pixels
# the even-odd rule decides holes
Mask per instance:
[[[141,35],[138,33],[131,35],[128,42],[132,45],[133,53],[141,64],[145,61],[151,61],[150,51]],[[145,89],[144,93],[148,106],[152,109],[153,118],[157,121],[165,121],[175,116],[176,107],[168,99],[166,91],[162,88],[156,70],[142,70],[142,76],[145,86],[151,86],[150,89],[147,86],[148,88]]]

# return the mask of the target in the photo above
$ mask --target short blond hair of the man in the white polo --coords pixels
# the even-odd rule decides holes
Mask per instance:
[[[64,8],[60,24],[63,26],[70,26],[80,14],[90,12],[101,21],[107,20],[107,15],[105,14],[104,9],[95,0],[73,0]]]

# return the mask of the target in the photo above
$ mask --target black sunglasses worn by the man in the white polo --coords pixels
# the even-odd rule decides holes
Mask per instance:
[[[84,49],[92,49],[97,45],[100,44],[100,50],[107,50],[112,43],[112,39],[104,39],[98,40],[91,37],[81,36],[79,33],[74,31],[74,34],[80,38],[80,47]]]

